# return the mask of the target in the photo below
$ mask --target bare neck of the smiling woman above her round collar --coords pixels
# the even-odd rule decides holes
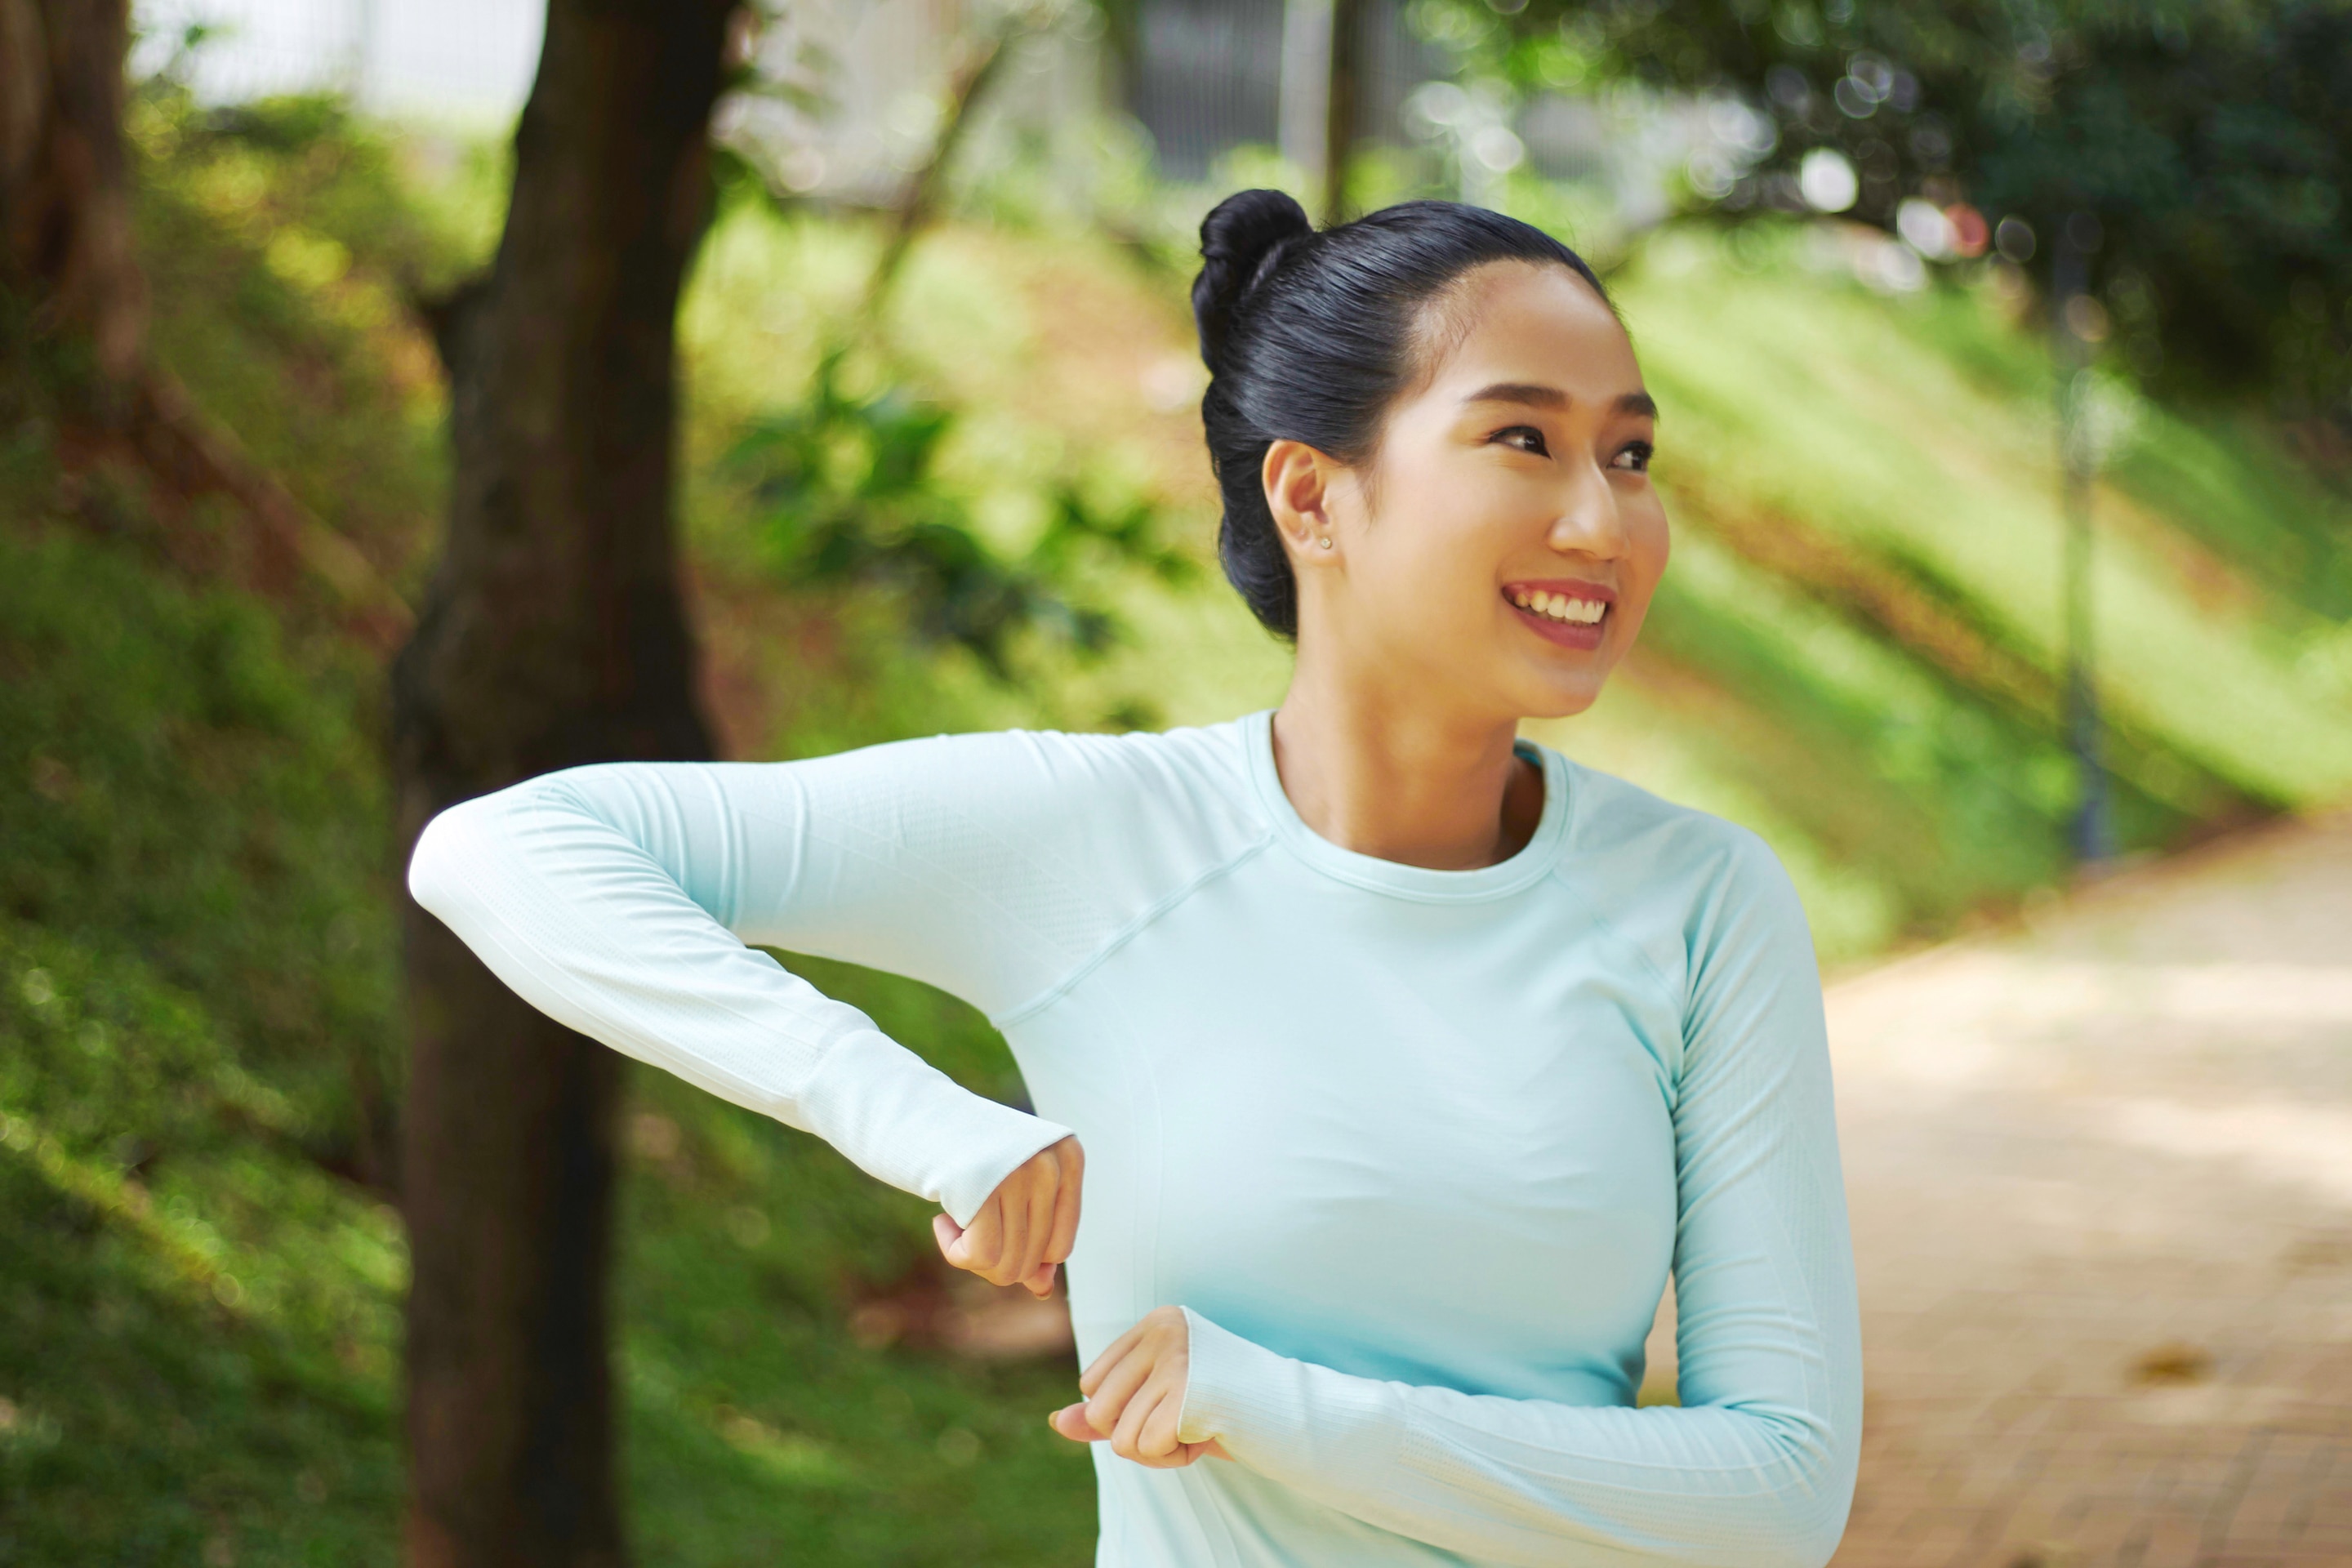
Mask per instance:
[[[1475,870],[1519,853],[1543,818],[1543,769],[1486,722],[1352,691],[1305,663],[1275,710],[1275,771],[1298,820],[1359,856]]]

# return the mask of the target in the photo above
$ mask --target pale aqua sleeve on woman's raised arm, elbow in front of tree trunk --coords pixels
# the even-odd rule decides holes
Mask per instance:
[[[988,1011],[1044,990],[1087,940],[1094,891],[1070,875],[1075,795],[1094,780],[1056,741],[567,769],[433,818],[409,891],[560,1023],[811,1131],[969,1225],[1068,1128],[960,1088],[746,943]]]

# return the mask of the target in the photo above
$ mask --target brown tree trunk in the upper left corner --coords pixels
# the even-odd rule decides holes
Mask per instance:
[[[35,334],[89,343],[101,383],[146,336],[122,150],[125,0],[0,0],[0,284]]]

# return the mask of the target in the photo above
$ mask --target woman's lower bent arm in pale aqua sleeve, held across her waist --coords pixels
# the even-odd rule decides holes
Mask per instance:
[[[1127,1366],[1089,1368],[1098,1399],[1056,1429],[1087,1436],[1091,1420],[1160,1465],[1214,1441],[1317,1502],[1484,1561],[1557,1563],[1583,1547],[1820,1568],[1853,1497],[1860,1324],[1818,969],[1795,889],[1759,842],[1743,835],[1691,954],[1675,1100],[1679,1408],[1352,1378],[1190,1309],[1185,1333],[1169,1333],[1162,1309],[1122,1340]],[[1171,1378],[1143,1359],[1183,1366]],[[1131,1418],[1131,1394],[1171,1382],[1181,1394],[1155,1401],[1157,1422]]]

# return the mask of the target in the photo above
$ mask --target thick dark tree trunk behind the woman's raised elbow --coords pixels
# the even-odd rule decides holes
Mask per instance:
[[[701,759],[670,527],[677,292],[724,0],[553,0],[489,277],[445,331],[449,536],[393,668],[400,835],[607,759]],[[621,1063],[407,905],[407,1554],[621,1563],[607,1272]]]

